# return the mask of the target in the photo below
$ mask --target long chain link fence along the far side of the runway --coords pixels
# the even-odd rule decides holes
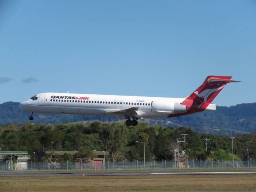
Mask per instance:
[[[191,169],[228,169],[228,168],[256,168],[255,160],[180,160],[180,161],[91,161],[91,162],[0,162],[0,172],[27,172],[27,171],[117,171],[117,170],[191,170]]]

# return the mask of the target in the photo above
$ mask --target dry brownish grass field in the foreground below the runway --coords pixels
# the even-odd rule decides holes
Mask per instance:
[[[2,192],[256,190],[256,175],[0,177]]]

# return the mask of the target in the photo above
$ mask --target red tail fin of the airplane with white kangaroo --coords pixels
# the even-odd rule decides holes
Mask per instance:
[[[198,87],[181,104],[187,106],[187,110],[204,110],[227,83],[238,82],[230,80],[231,76],[208,76],[204,83]]]

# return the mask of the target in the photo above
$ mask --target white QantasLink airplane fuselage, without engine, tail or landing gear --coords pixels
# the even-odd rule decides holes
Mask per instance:
[[[103,116],[126,116],[127,110],[136,109],[138,118],[164,118],[172,112],[152,111],[152,102],[181,103],[185,98],[162,98],[143,96],[117,96],[70,93],[41,93],[20,104],[27,112],[82,114]]]

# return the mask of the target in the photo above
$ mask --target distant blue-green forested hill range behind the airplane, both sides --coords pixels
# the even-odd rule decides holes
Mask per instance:
[[[18,102],[0,104],[0,125],[10,123],[27,123],[29,113],[18,108]],[[82,116],[58,114],[34,114],[33,123],[57,124],[80,121],[108,121],[124,120],[123,118],[108,116]],[[256,103],[238,104],[236,106],[217,106],[216,111],[200,112],[179,118],[164,118],[144,120],[150,124],[165,127],[191,126],[197,132],[211,134],[233,135],[236,133],[254,132],[256,128]]]

